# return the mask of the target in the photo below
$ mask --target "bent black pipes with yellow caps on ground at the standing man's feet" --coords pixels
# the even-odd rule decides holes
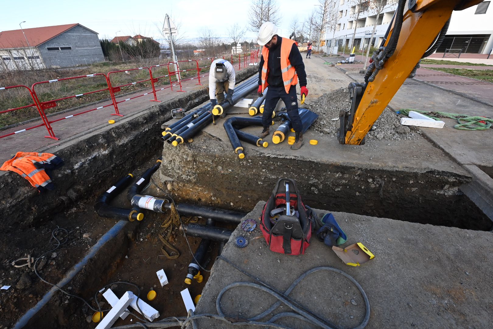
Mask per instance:
[[[272,124],[274,124],[274,121],[272,121]],[[261,138],[240,130],[248,126],[261,127],[262,118],[245,118],[241,116],[234,116],[227,119],[223,126],[226,134],[228,135],[229,142],[231,143],[231,146],[233,146],[233,150],[238,154],[240,159],[245,158],[245,153],[243,152],[243,146],[240,143],[240,140],[255,146],[267,147],[269,145],[267,142],[262,141]]]

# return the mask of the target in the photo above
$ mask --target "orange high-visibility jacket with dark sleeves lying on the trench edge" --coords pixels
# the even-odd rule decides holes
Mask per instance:
[[[28,180],[34,187],[42,190],[53,188],[51,179],[43,167],[55,169],[62,164],[62,159],[51,153],[17,152],[12,159],[3,163],[0,170],[13,171]]]

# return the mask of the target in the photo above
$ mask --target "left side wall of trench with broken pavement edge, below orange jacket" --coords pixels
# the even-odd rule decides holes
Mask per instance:
[[[257,73],[256,67],[240,71],[241,82]],[[193,108],[209,99],[208,88],[183,93],[172,100],[127,115],[114,125],[101,124],[84,133],[36,151],[54,153],[65,165],[52,172],[55,189],[39,194],[24,178],[0,172],[0,212],[8,214],[0,229],[12,231],[60,213],[77,200],[97,195],[138,168],[162,148],[161,124],[171,118],[169,110]],[[35,151],[35,150],[29,150]]]

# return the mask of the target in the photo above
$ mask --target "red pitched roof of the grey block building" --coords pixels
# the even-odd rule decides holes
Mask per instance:
[[[70,30],[71,28],[77,25],[80,24],[75,23],[75,24],[44,26],[40,28],[24,29],[24,33],[31,47],[36,47],[48,41],[49,39],[61,35],[62,33],[66,32],[67,30]],[[0,49],[27,48],[28,44],[26,42],[26,38],[22,34],[22,30],[2,31],[0,32]]]

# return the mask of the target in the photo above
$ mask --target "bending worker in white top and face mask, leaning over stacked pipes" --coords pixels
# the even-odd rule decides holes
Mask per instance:
[[[233,90],[235,89],[236,77],[235,69],[228,61],[220,58],[211,63],[209,70],[209,98],[211,99],[211,109],[217,103],[224,101],[224,92],[226,100],[233,105]],[[219,116],[224,118],[226,111]]]

